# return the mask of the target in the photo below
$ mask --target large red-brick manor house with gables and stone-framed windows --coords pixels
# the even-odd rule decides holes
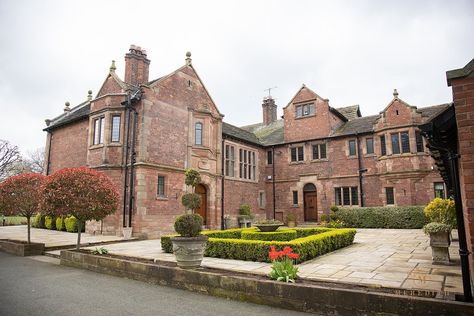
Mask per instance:
[[[185,168],[201,172],[198,212],[208,228],[239,206],[256,218],[317,222],[331,205],[423,205],[446,196],[445,184],[418,128],[449,104],[417,108],[394,90],[378,115],[358,105],[334,108],[303,85],[277,118],[263,99],[263,122],[224,122],[186,54],[171,74],[149,80],[145,50],[132,45],[125,76],[112,63],[95,97],[46,120],[46,173],[88,166],[105,172],[122,194],[120,208],[90,233],[155,238],[184,212]]]

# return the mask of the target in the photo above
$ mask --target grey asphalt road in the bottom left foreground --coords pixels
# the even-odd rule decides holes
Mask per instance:
[[[0,315],[307,315],[0,252]]]

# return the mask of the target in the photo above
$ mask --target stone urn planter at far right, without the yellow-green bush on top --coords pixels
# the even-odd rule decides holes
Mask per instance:
[[[441,223],[429,223],[423,227],[423,230],[430,236],[431,257],[433,263],[449,264],[451,226]]]

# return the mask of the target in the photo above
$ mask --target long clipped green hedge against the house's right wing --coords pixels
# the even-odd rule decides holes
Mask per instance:
[[[344,227],[357,228],[416,229],[429,223],[423,206],[339,208],[333,217]]]

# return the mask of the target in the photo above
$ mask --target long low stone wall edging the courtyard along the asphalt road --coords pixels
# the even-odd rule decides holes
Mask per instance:
[[[473,304],[370,290],[291,284],[226,271],[183,270],[63,250],[61,264],[257,304],[322,315],[472,315]]]

